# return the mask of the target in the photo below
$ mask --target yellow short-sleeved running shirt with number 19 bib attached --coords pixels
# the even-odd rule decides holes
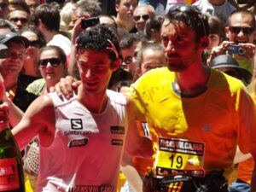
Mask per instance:
[[[180,96],[174,81],[175,73],[157,68],[132,84],[129,92],[137,119],[146,120],[151,134],[159,138],[154,142],[154,167],[187,169],[182,174],[201,174],[203,167],[206,173],[224,170],[229,177],[236,145],[244,154],[256,148],[253,100],[241,81],[213,69],[200,96]]]

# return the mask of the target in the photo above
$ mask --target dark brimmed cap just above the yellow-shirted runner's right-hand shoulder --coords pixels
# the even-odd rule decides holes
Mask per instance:
[[[240,67],[235,58],[231,55],[218,55],[212,60],[212,68],[218,69],[221,67],[230,67],[236,69],[240,73],[241,78],[245,80],[245,83],[248,84],[252,79],[252,73],[247,69]]]

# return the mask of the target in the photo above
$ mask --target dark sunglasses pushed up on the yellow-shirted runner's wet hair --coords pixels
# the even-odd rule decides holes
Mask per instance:
[[[189,21],[192,22],[194,26],[202,26],[204,34],[207,35],[206,26],[204,24],[204,20],[202,19],[202,15],[199,9],[195,6],[188,5],[176,5],[169,9],[167,15],[171,15],[174,20],[177,20],[177,12],[183,13],[185,15],[189,15],[186,23],[189,24]],[[198,22],[199,21],[199,22]],[[188,25],[189,26],[189,25]]]

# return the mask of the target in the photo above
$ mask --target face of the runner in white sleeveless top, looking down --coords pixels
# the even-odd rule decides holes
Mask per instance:
[[[104,51],[79,49],[77,60],[84,90],[92,93],[105,91],[114,70],[108,54]]]

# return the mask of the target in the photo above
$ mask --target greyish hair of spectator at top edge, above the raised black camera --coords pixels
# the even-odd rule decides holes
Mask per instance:
[[[79,0],[75,3],[74,10],[77,10],[79,16],[96,17],[102,13],[101,5],[97,0]]]

